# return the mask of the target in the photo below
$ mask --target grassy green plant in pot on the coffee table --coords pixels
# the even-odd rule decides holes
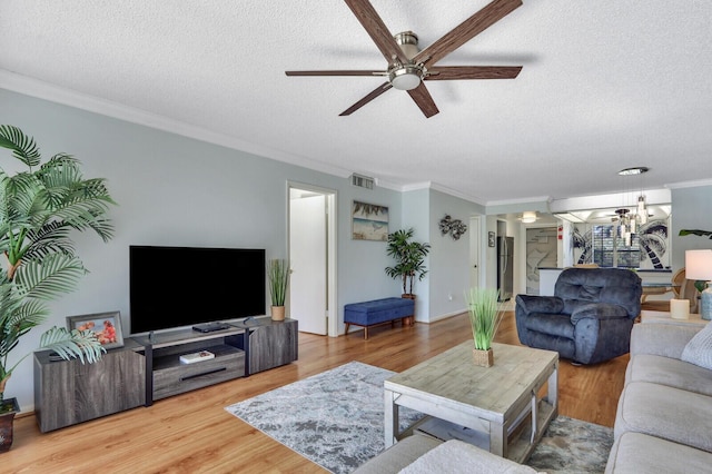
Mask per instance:
[[[471,288],[469,294],[465,294],[465,299],[472,326],[475,364],[490,367],[494,364],[492,340],[504,315],[500,306],[500,290]]]

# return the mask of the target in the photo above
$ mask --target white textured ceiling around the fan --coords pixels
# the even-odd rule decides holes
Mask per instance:
[[[372,0],[426,47],[487,0]],[[712,2],[524,0],[439,65],[514,80],[428,81],[426,119],[339,0],[2,0],[0,87],[397,189],[481,204],[712,182]],[[31,130],[28,130],[31,131]]]

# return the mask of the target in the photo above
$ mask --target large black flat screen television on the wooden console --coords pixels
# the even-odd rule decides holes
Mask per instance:
[[[131,334],[264,315],[265,250],[129,247]]]

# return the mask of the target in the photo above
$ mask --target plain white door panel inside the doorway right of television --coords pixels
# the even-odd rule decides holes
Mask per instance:
[[[289,199],[289,317],[299,330],[326,335],[326,196],[294,192]]]

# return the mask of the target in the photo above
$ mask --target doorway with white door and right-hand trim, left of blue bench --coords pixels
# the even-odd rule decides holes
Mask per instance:
[[[289,317],[305,333],[337,336],[336,191],[289,185]]]

